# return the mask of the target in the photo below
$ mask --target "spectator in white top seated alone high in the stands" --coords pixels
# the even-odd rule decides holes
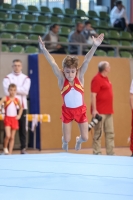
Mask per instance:
[[[111,24],[114,27],[121,28],[122,30],[133,31],[133,24],[129,24],[126,15],[126,9],[122,1],[116,1],[114,8],[110,13]]]

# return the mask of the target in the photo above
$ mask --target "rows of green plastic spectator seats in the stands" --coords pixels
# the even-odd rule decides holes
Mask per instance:
[[[132,34],[112,27],[109,23],[109,15],[106,12],[100,12],[98,15],[95,11],[91,10],[85,13],[81,9],[73,10],[66,8],[62,10],[58,7],[54,7],[50,10],[46,6],[41,6],[40,9],[38,9],[33,5],[25,7],[24,5],[16,4],[12,6],[7,3],[3,3],[0,6],[0,38],[4,39],[2,50],[5,52],[7,50],[13,52],[14,49],[21,49],[20,45],[18,45],[19,47],[12,46],[11,48],[10,44],[13,43],[13,41],[9,42],[9,40],[13,38],[22,41],[28,39],[37,41],[38,35],[44,35],[52,23],[60,25],[60,41],[67,42],[68,35],[74,30],[75,24],[77,22],[84,23],[87,18],[91,21],[92,27],[96,29],[97,33],[104,33],[106,43],[115,46],[119,45],[119,47],[125,46],[125,48],[120,49],[120,56],[132,56]],[[8,43],[9,46],[6,46]],[[22,46],[22,49],[24,48],[25,51],[26,43],[21,41],[17,43],[23,44],[24,46]],[[67,46],[68,45],[65,45],[66,48]],[[36,44],[36,47],[38,47],[38,44]],[[127,47],[130,47],[130,49],[127,49]],[[36,50],[34,49],[33,52],[36,52]],[[108,52],[97,50],[96,53],[97,55],[104,56],[114,55],[113,50]]]

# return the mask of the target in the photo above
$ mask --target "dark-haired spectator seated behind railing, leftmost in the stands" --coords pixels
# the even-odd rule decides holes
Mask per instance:
[[[59,42],[59,25],[58,24],[53,24],[52,26],[50,26],[50,30],[47,34],[45,34],[42,37],[42,40],[45,42],[51,42],[51,43],[46,43],[45,46],[47,48],[47,50],[50,53],[59,53],[59,54],[66,54],[65,49],[57,43],[53,43],[53,42]]]

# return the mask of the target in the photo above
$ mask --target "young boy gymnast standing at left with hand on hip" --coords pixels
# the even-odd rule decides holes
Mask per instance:
[[[10,84],[8,87],[9,95],[2,98],[0,101],[0,105],[4,103],[5,107],[5,118],[4,118],[4,126],[5,126],[5,132],[6,136],[4,139],[4,148],[3,148],[3,154],[12,154],[12,150],[14,147],[14,138],[16,130],[19,128],[18,126],[18,120],[21,117],[22,114],[22,106],[16,96],[17,87],[15,84]],[[19,113],[17,115],[17,107],[19,107]],[[9,145],[9,151],[8,151],[8,145]]]

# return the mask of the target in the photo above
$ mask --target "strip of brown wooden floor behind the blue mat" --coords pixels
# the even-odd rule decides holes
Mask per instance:
[[[115,148],[115,155],[116,156],[130,156],[131,152],[129,148]],[[28,154],[42,154],[42,153],[59,153],[59,152],[64,152],[63,150],[33,150],[33,149],[28,149],[27,153]],[[19,154],[19,150],[14,150],[13,154]],[[75,151],[74,149],[70,149],[68,153],[77,153],[77,154],[92,154],[92,149],[81,149],[80,151]],[[106,150],[102,149],[102,154],[106,155]]]

